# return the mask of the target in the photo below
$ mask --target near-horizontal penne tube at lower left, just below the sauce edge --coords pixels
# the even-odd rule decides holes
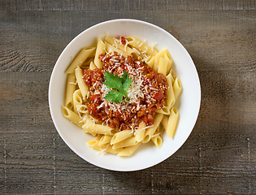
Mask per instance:
[[[109,136],[113,136],[115,134],[114,128],[110,128],[102,124],[94,124],[91,121],[86,121],[85,124],[82,126],[82,128],[87,132],[96,133],[96,134],[109,135]]]

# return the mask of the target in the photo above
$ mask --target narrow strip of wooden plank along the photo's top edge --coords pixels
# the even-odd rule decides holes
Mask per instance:
[[[2,1],[1,10],[10,11],[173,11],[173,10],[255,10],[255,0],[88,0],[88,1]]]

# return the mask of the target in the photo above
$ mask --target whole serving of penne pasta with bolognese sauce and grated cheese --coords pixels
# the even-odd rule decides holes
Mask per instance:
[[[163,131],[173,139],[180,116],[174,105],[182,85],[172,64],[168,50],[136,37],[98,38],[67,67],[63,116],[95,137],[86,145],[99,153],[129,157],[149,141],[161,148]],[[106,72],[115,82],[107,84]],[[120,98],[107,99],[110,93]]]

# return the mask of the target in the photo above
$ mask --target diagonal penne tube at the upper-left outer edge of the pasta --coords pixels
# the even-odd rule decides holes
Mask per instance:
[[[82,50],[80,50],[79,54],[76,55],[76,58],[74,58],[69,67],[67,67],[66,73],[74,73],[76,67],[80,67],[85,62],[86,58],[88,58],[89,55],[93,53],[94,50],[95,47],[83,48]]]

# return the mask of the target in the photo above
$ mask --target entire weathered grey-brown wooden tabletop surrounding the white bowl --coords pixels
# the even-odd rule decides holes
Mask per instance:
[[[50,117],[48,86],[59,54],[105,20],[166,29],[189,51],[202,87],[193,132],[163,163],[104,170],[78,157]],[[256,193],[256,2],[0,2],[1,194]]]

